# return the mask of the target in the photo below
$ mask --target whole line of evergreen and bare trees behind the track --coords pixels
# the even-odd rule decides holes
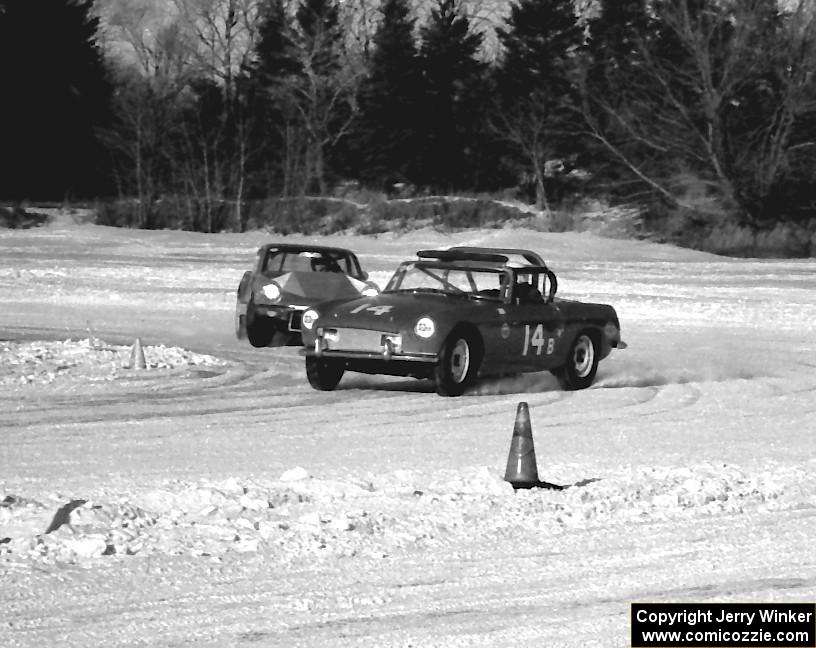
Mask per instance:
[[[158,226],[247,201],[521,187],[813,223],[809,0],[0,0],[0,199]],[[492,32],[491,32],[492,33]]]

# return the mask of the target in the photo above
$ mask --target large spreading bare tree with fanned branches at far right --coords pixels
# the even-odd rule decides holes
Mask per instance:
[[[769,0],[658,6],[662,32],[641,37],[617,96],[585,86],[587,132],[669,202],[708,211],[684,199],[693,176],[718,204],[712,214],[725,207],[756,225],[792,156],[812,146],[793,139],[814,110],[810,3],[787,16]]]

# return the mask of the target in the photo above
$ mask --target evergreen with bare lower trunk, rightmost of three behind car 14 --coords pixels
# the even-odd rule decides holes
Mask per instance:
[[[574,152],[574,68],[582,31],[571,0],[520,0],[498,31],[494,125],[530,178],[536,202],[548,208],[548,162]],[[552,184],[552,183],[550,183]]]

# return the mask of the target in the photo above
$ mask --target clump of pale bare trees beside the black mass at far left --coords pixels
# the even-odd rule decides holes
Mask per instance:
[[[254,51],[258,19],[257,0],[107,6],[108,51],[121,68],[136,71],[123,76],[118,96],[125,128],[117,148],[131,159],[140,209],[162,189],[180,191],[198,227],[218,226],[226,201],[241,222],[252,146],[240,75]],[[161,177],[150,156],[162,161]]]

